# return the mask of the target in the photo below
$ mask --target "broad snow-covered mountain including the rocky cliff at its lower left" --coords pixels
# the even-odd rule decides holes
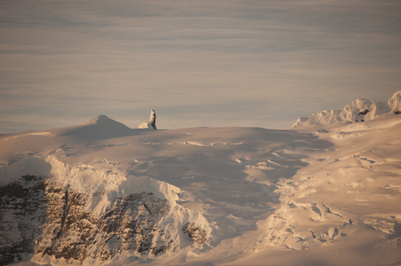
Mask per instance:
[[[401,115],[293,130],[100,115],[0,135],[0,264],[398,265],[400,131]]]

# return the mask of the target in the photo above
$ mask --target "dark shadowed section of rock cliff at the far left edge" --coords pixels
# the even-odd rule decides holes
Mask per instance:
[[[46,218],[44,178],[22,176],[0,187],[0,265],[33,254]]]

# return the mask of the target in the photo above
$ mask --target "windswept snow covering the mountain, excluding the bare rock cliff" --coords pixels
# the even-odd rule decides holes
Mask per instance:
[[[49,176],[88,195],[95,217],[132,193],[165,200],[152,224],[170,246],[110,265],[401,264],[401,115],[296,130],[141,130],[100,116],[0,137],[0,185]]]

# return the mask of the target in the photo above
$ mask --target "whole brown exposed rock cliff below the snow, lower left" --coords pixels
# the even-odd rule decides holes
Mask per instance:
[[[156,223],[168,210],[166,200],[141,192],[116,197],[100,217],[89,207],[93,197],[44,177],[23,176],[0,187],[0,264],[24,255],[76,262],[105,262],[116,254],[156,255],[171,239]]]

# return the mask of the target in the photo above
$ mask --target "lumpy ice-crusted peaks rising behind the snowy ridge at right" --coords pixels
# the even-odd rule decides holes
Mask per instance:
[[[349,103],[341,109],[313,113],[309,117],[300,117],[293,124],[293,128],[310,124],[370,121],[400,112],[401,90],[394,93],[387,103],[362,98]]]

